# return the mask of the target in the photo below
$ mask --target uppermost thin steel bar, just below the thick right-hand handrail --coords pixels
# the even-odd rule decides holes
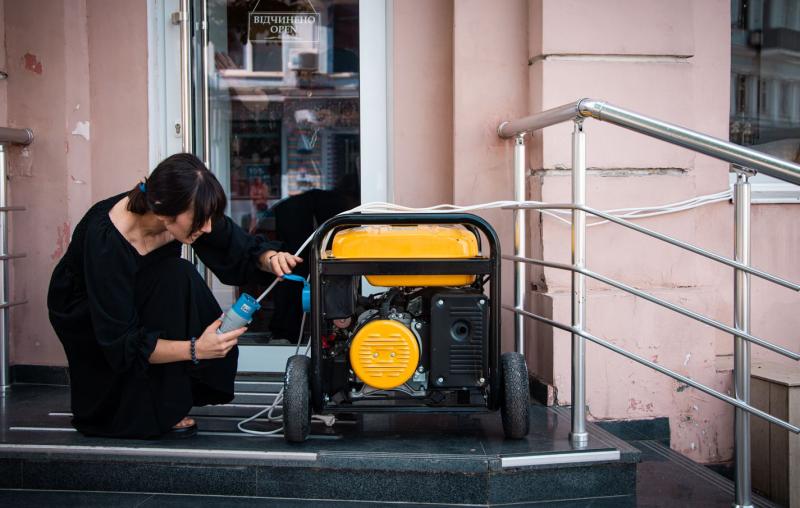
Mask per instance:
[[[700,247],[696,247],[690,243],[682,242],[680,240],[676,240],[671,236],[667,236],[661,234],[657,231],[653,231],[652,229],[647,229],[645,227],[639,226],[638,224],[634,224],[633,222],[620,219],[614,215],[611,215],[606,212],[601,212],[600,210],[596,210],[594,208],[590,208],[588,206],[583,205],[573,205],[570,203],[543,203],[543,204],[536,204],[536,203],[520,203],[519,205],[513,206],[504,206],[503,210],[516,210],[516,209],[529,209],[529,210],[583,210],[586,213],[596,215],[597,217],[603,218],[609,222],[613,222],[615,224],[619,224],[620,226],[624,226],[626,228],[632,229],[634,231],[638,231],[639,233],[645,234],[647,236],[651,236],[657,240],[661,240],[666,242],[670,245],[674,245],[676,247],[680,247],[681,249],[688,250],[690,252],[694,252],[695,254],[699,254],[703,257],[716,261],[718,263],[722,263],[723,265],[730,266],[731,268],[735,268],[737,270],[745,271],[749,274],[755,275],[761,279],[766,281],[772,282],[779,286],[783,286],[788,289],[792,289],[794,291],[800,292],[800,284],[796,284],[792,281],[783,279],[776,275],[772,275],[770,273],[764,272],[759,270],[758,268],[753,268],[752,266],[744,265],[739,263],[738,261],[734,261],[732,259],[726,258],[725,256],[720,256],[719,254],[714,254],[713,252],[707,251],[705,249],[701,249]]]

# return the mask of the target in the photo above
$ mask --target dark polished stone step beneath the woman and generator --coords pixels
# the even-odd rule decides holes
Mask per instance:
[[[308,441],[289,444],[279,434],[238,432],[239,417],[257,410],[247,404],[197,408],[206,414],[191,439],[91,438],[67,427],[68,415],[49,415],[67,400],[66,387],[11,391],[0,419],[0,489],[635,505],[638,450],[594,425],[588,446],[573,449],[569,419],[540,405],[531,406],[531,433],[521,440],[503,437],[497,413],[365,414],[332,428],[315,422]],[[261,420],[248,428],[278,425]]]

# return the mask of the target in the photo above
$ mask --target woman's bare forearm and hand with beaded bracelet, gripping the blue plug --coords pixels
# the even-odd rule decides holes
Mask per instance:
[[[214,321],[195,341],[195,357],[198,360],[223,358],[239,343],[239,336],[247,330],[246,327],[242,327],[226,333],[217,333],[221,324],[222,321],[219,319]],[[150,354],[149,362],[172,363],[191,359],[191,341],[158,339],[155,349]]]

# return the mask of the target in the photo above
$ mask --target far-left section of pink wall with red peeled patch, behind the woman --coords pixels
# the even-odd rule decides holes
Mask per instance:
[[[65,5],[34,0],[5,7],[8,123],[29,127],[35,136],[29,148],[13,147],[9,158],[9,202],[27,207],[11,215],[9,228],[11,251],[27,254],[11,262],[10,297],[27,301],[10,313],[11,360],[64,364],[46,293],[70,235]]]

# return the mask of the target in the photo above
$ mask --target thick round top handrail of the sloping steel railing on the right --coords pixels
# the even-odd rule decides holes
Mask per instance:
[[[519,120],[503,122],[497,128],[497,133],[501,138],[512,138],[575,118],[594,118],[613,123],[667,143],[800,185],[800,165],[595,99],[580,99]]]

